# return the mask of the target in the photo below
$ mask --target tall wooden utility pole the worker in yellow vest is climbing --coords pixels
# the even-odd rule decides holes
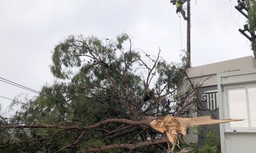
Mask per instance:
[[[190,46],[190,0],[187,1],[187,66],[191,67],[191,46]]]

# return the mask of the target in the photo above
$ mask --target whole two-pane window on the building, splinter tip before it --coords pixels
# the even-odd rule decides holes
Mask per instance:
[[[229,123],[229,130],[256,130],[256,85],[226,87],[228,118],[244,119]]]

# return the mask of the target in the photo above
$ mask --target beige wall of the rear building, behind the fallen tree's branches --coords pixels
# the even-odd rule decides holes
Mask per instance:
[[[256,68],[256,60],[252,56],[236,58],[233,60],[207,64],[198,67],[192,67],[187,70],[188,77],[194,82],[203,82],[203,87],[217,85],[217,73],[230,72],[244,69]],[[207,79],[207,80],[206,80]],[[206,80],[206,81],[205,81]],[[178,88],[178,93],[184,93],[190,83],[188,79],[184,79],[181,86]],[[217,101],[218,105],[221,101]],[[197,113],[192,114],[194,117]],[[192,130],[192,131],[191,131]],[[198,131],[196,128],[190,128],[187,134],[187,141],[191,143],[198,142]]]

